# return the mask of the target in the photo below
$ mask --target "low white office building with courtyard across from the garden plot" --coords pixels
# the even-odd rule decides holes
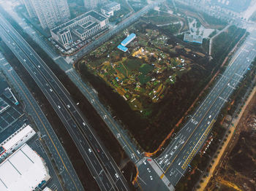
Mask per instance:
[[[67,47],[77,39],[87,39],[102,29],[108,28],[108,18],[95,11],[89,11],[50,30],[53,39]]]

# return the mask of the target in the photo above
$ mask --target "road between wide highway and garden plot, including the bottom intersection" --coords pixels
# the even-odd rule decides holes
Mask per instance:
[[[80,79],[79,74],[74,69],[72,69],[72,65],[68,64],[66,61],[64,61],[64,58],[61,58],[59,55],[57,55],[54,50],[47,43],[45,43],[44,39],[37,35],[37,32],[34,31],[33,28],[31,28],[22,19],[20,19],[20,17],[18,17],[15,12],[13,12],[11,7],[8,7],[7,10],[10,12],[10,14],[12,14],[12,16],[24,29],[24,31],[26,31],[26,33],[28,33],[31,38],[34,39],[34,41],[37,42],[39,46],[42,47],[42,49],[45,50],[48,55],[50,55],[51,58],[53,58],[53,60],[61,67],[61,69],[66,72],[72,82],[78,86],[83,95],[85,95],[86,98],[91,102],[91,105],[94,106],[94,109],[97,110],[98,114],[102,117],[102,120],[104,120],[106,125],[108,125],[108,128],[110,128],[113,135],[116,136],[116,139],[121,144],[130,160],[132,160],[135,165],[138,166],[138,182],[140,183],[141,189],[150,190],[154,188],[154,190],[168,190],[167,185],[169,182],[162,182],[162,180],[159,179],[159,174],[162,173],[160,168],[157,167],[157,164],[154,162],[154,160],[147,161],[146,158],[143,158],[143,153],[136,146],[135,142],[127,135],[127,131],[121,128],[121,125],[119,125],[118,122],[113,119],[108,110],[105,109],[105,106],[100,103],[97,92],[85,82],[83,82],[83,80]],[[143,161],[146,163],[146,165],[143,163]],[[147,168],[150,169],[150,173],[148,172]],[[153,180],[150,179],[150,176],[152,176]]]

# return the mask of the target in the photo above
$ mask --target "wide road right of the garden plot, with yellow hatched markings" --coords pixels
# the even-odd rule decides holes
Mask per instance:
[[[249,70],[256,56],[256,34],[247,37],[244,44],[233,56],[223,74],[219,74],[216,84],[202,104],[190,117],[187,124],[177,133],[173,141],[154,160],[162,169],[173,187],[184,176],[189,163],[206,141],[222,106],[230,101],[229,97]],[[160,177],[162,177],[160,176]]]

